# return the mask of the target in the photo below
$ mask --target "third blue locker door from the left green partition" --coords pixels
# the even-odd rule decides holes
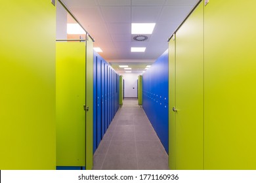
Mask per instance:
[[[105,134],[105,62],[101,63],[101,137]]]

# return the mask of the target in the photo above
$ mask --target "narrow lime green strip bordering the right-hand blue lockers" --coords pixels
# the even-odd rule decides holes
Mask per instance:
[[[169,168],[176,169],[175,35],[169,41]]]

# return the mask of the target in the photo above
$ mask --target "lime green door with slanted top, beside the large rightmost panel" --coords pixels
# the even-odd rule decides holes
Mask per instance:
[[[203,169],[203,3],[176,33],[176,169]]]

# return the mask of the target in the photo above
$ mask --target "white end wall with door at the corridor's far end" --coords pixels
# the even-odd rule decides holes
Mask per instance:
[[[138,80],[138,73],[124,73],[123,80],[124,80],[124,97],[129,98],[137,98],[137,80]]]

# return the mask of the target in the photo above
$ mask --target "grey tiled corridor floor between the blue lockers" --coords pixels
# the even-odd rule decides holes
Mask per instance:
[[[95,170],[169,169],[168,156],[137,99],[125,99],[94,156]]]

